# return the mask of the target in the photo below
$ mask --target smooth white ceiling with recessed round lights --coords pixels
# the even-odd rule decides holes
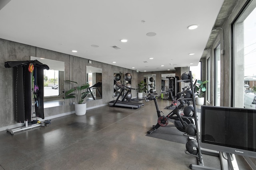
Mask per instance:
[[[113,65],[143,72],[198,65],[223,0],[2,0],[0,3],[2,39],[92,62],[115,61]],[[199,25],[198,29],[189,30],[187,27],[192,24]],[[155,32],[156,36],[147,36],[149,32]],[[121,39],[128,42],[122,43]]]

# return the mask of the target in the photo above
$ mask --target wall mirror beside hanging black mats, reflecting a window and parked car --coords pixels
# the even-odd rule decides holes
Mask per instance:
[[[63,105],[65,63],[33,56],[30,60],[38,60],[50,68],[44,70],[44,108]]]

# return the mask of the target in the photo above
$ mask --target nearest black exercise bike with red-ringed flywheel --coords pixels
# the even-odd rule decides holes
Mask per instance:
[[[158,107],[158,103],[157,103],[157,100],[156,100],[156,95],[157,93],[150,93],[148,94],[148,96],[144,96],[144,99],[145,99],[145,102],[149,102],[151,100],[154,100],[154,103],[155,103],[155,106],[156,106],[156,112],[157,112],[157,116],[158,116],[158,119],[157,119],[157,124],[156,125],[153,125],[152,129],[149,130],[147,133],[151,134],[153,133],[154,131],[156,131],[156,129],[158,129],[160,126],[162,127],[165,127],[168,125],[168,122],[172,122],[174,123],[174,126],[179,130],[179,131],[182,131],[182,132],[186,132],[185,131],[185,128],[188,124],[190,123],[193,123],[194,124],[194,121],[192,120],[191,117],[185,117],[183,115],[180,114],[180,110],[184,108],[184,106],[187,104],[187,102],[185,100],[187,100],[187,98],[182,98],[182,95],[183,94],[186,94],[186,92],[189,90],[189,88],[185,88],[183,89],[182,92],[178,92],[177,93],[177,96],[181,97],[179,98],[178,100],[174,100],[173,96],[172,96],[172,93],[170,93],[171,95],[171,98],[172,98],[172,105],[175,106],[175,109],[172,110],[168,115],[164,116],[164,115],[161,115],[161,112],[159,110],[159,107]],[[178,105],[178,103],[180,103]],[[171,106],[172,106],[171,105]],[[163,113],[163,112],[162,112]],[[164,114],[164,113],[163,113]]]

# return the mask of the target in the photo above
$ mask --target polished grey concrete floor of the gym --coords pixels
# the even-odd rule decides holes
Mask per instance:
[[[139,109],[90,109],[13,136],[2,131],[0,170],[187,170],[196,164],[194,156],[184,153],[184,144],[146,136],[157,115],[153,101],[144,104]],[[158,104],[168,113],[168,100]],[[220,168],[218,157],[203,159],[205,166]],[[240,170],[248,170],[238,161]]]

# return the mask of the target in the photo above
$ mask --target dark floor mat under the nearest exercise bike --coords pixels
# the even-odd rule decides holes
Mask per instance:
[[[155,132],[146,136],[183,144],[188,142],[188,137],[184,136],[183,132],[179,131],[176,127],[159,127]]]

